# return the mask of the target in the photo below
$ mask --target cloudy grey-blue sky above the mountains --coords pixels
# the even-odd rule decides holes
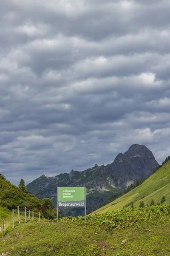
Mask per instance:
[[[169,0],[0,1],[0,172],[13,184],[170,155]]]

